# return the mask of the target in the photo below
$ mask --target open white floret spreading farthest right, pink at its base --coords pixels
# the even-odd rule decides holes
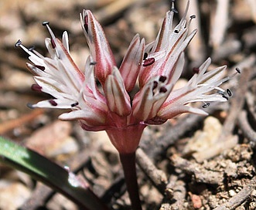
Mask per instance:
[[[162,104],[157,116],[164,119],[176,116],[179,112],[183,113],[185,107],[187,107],[185,105],[191,102],[227,100],[227,97],[222,93],[223,90],[219,87],[222,83],[229,80],[229,77],[220,80],[220,75],[226,67],[222,66],[205,73],[209,65],[210,59],[207,59],[200,66],[199,73],[195,73],[186,86],[173,90],[166,99],[166,102]],[[207,94],[212,90],[220,90],[221,93]],[[193,110],[192,107],[189,108],[189,111],[186,110],[186,112],[191,112],[191,110]],[[196,109],[196,112],[200,113],[199,110]]]

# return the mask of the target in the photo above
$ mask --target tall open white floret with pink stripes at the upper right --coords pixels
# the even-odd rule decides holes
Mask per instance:
[[[188,46],[189,42],[196,34],[196,30],[194,30],[188,35],[189,25],[186,24],[185,19],[187,10],[188,5],[183,19],[181,19],[174,29],[172,29],[173,9],[172,12],[166,13],[166,18],[162,22],[162,28],[159,31],[157,39],[153,44],[151,43],[149,45],[152,46],[152,49],[149,52],[148,57],[155,52],[165,52],[165,55],[162,56],[161,59],[155,59],[155,62],[152,63],[152,65],[142,68],[138,75],[138,81],[141,87],[154,76],[166,75],[169,77],[169,80],[171,80],[172,75],[176,74],[174,71],[180,54],[186,49],[186,46]],[[148,46],[146,46],[146,50],[148,50]],[[182,71],[182,69],[179,69],[179,71]]]

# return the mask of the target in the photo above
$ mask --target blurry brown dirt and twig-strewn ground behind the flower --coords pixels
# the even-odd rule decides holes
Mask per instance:
[[[176,1],[179,14],[186,0]],[[70,51],[81,69],[88,56],[79,14],[89,8],[101,22],[117,63],[135,33],[151,42],[170,8],[164,0],[74,0],[0,2],[0,135],[33,148],[60,165],[82,174],[113,209],[129,209],[118,154],[104,132],[86,132],[76,122],[56,120],[62,110],[30,110],[27,103],[47,99],[32,92],[26,53],[18,39],[46,55],[41,25],[49,21],[61,37],[67,30]],[[211,117],[184,115],[147,127],[138,150],[138,182],[144,209],[255,209],[256,148],[256,3],[254,0],[191,0],[191,29],[198,33],[186,50],[179,84],[192,76],[207,57],[227,65],[224,84],[233,97],[210,103]],[[196,104],[202,106],[203,104]],[[152,171],[152,173],[150,172]],[[26,174],[0,165],[0,209],[78,209]]]

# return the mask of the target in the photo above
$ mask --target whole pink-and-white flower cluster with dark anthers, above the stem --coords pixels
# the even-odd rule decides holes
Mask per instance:
[[[145,39],[135,35],[119,68],[101,25],[89,10],[84,10],[80,21],[90,48],[84,71],[70,56],[67,32],[60,41],[49,22],[44,22],[51,36],[46,39],[50,57],[26,49],[20,41],[16,43],[29,53],[32,63],[27,66],[36,81],[32,89],[54,97],[32,107],[70,109],[60,115],[61,120],[79,120],[84,130],[106,130],[121,154],[135,151],[148,124],[162,124],[181,113],[207,114],[188,103],[202,101],[206,107],[209,101],[227,100],[219,87],[228,80],[221,79],[226,66],[207,72],[207,59],[186,86],[172,90],[183,71],[183,51],[196,34],[196,30],[189,34],[194,16],[186,21],[187,10],[188,5],[183,19],[173,26],[176,10],[172,5],[154,42],[146,45]],[[138,91],[131,96],[135,86]]]

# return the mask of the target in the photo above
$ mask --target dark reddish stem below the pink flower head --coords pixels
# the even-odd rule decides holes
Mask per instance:
[[[131,208],[133,210],[142,210],[142,205],[138,194],[135,152],[129,154],[119,154],[119,157],[125,173],[125,183],[131,200]]]

